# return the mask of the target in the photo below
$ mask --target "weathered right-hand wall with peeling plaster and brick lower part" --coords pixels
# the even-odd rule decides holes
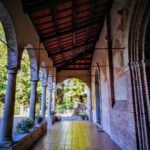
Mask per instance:
[[[92,66],[99,64],[100,70],[100,98],[102,101],[102,127],[111,138],[122,149],[136,149],[135,118],[132,99],[132,88],[128,50],[128,34],[130,20],[135,1],[115,0],[110,15],[110,31],[108,34],[108,22],[105,20],[99,41],[96,44],[96,51],[93,57]],[[108,42],[112,42],[112,64],[113,78],[111,78]],[[98,49],[101,48],[101,49]],[[104,48],[104,49],[103,49]],[[91,69],[95,75],[97,67]],[[112,68],[111,68],[112,69]],[[95,77],[91,78],[92,84],[92,108],[93,121],[96,122],[95,107]],[[113,86],[111,85],[113,84]],[[111,94],[114,92],[114,96]]]

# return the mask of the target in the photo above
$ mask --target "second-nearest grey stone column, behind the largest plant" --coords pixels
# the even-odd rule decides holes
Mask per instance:
[[[31,80],[29,118],[32,120],[35,119],[37,81],[38,80]]]

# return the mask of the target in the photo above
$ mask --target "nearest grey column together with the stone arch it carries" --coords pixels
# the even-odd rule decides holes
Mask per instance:
[[[4,5],[0,2],[0,21],[5,30],[6,45],[8,49],[7,57],[7,87],[5,104],[3,111],[2,121],[2,144],[11,144],[12,142],[12,127],[14,115],[14,102],[16,92],[16,74],[18,70],[18,48],[16,42],[16,35],[11,18],[5,9]],[[3,41],[2,41],[3,42]]]

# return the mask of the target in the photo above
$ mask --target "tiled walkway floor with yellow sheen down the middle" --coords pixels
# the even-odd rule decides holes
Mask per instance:
[[[56,123],[32,150],[120,150],[105,132],[86,121]]]

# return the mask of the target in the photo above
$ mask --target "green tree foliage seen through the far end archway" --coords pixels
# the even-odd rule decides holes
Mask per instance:
[[[72,109],[75,100],[86,100],[86,84],[79,79],[72,78],[57,85],[56,105],[58,109]]]

